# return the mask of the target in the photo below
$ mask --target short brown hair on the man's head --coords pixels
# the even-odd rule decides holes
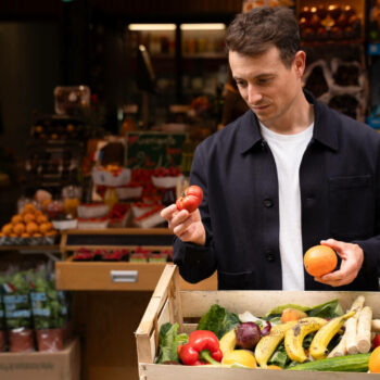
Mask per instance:
[[[248,13],[239,13],[227,29],[228,51],[255,56],[273,46],[278,48],[286,66],[292,63],[301,49],[294,12],[286,7],[258,7]]]

